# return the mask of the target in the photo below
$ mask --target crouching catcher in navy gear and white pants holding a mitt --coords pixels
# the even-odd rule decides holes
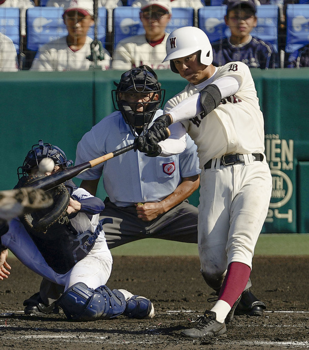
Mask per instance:
[[[44,167],[40,167],[46,158],[52,162],[44,161]],[[53,167],[47,169],[47,163]],[[16,188],[31,188],[38,176],[48,176],[71,165],[60,148],[39,140],[17,169]],[[1,274],[9,274],[9,248],[32,271],[65,286],[64,294],[51,309],[61,307],[68,319],[91,321],[119,315],[152,318],[154,307],[150,300],[105,286],[112,257],[104,237],[104,220],[99,221],[103,201],[78,188],[72,180],[47,191],[46,196],[53,198],[52,204],[12,218],[0,230]]]

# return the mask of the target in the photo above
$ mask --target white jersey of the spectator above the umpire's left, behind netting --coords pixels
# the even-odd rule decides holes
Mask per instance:
[[[65,70],[89,70],[93,67],[94,62],[87,59],[91,54],[90,44],[93,39],[89,36],[86,38],[84,46],[77,51],[73,51],[67,44],[67,37],[42,45],[32,63],[30,70],[35,71],[65,71]],[[106,70],[110,67],[110,55],[104,49],[104,59],[98,60],[97,65]]]

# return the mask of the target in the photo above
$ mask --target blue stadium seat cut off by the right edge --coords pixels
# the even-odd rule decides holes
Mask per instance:
[[[309,4],[287,5],[286,52],[294,52],[309,43]]]

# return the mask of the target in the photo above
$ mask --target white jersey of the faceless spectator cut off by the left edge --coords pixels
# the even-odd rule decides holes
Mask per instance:
[[[17,52],[13,41],[0,33],[0,71],[17,72]]]

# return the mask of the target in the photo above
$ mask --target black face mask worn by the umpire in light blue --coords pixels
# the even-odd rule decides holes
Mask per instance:
[[[111,91],[111,96],[115,110],[121,112],[123,119],[129,125],[134,136],[136,135],[135,133],[140,135],[143,132],[145,134],[156,111],[162,107],[165,96],[165,90],[161,89],[156,73],[149,66],[143,65],[123,73],[120,82],[114,82],[114,84],[117,86],[117,89]],[[120,94],[128,92],[140,94],[141,98],[138,102],[129,103],[123,100],[123,94]],[[145,93],[153,94],[148,101],[143,102],[142,95],[145,95]],[[158,96],[157,100],[155,100],[156,95]],[[133,111],[132,105],[135,105],[135,110],[142,106],[143,111]]]

